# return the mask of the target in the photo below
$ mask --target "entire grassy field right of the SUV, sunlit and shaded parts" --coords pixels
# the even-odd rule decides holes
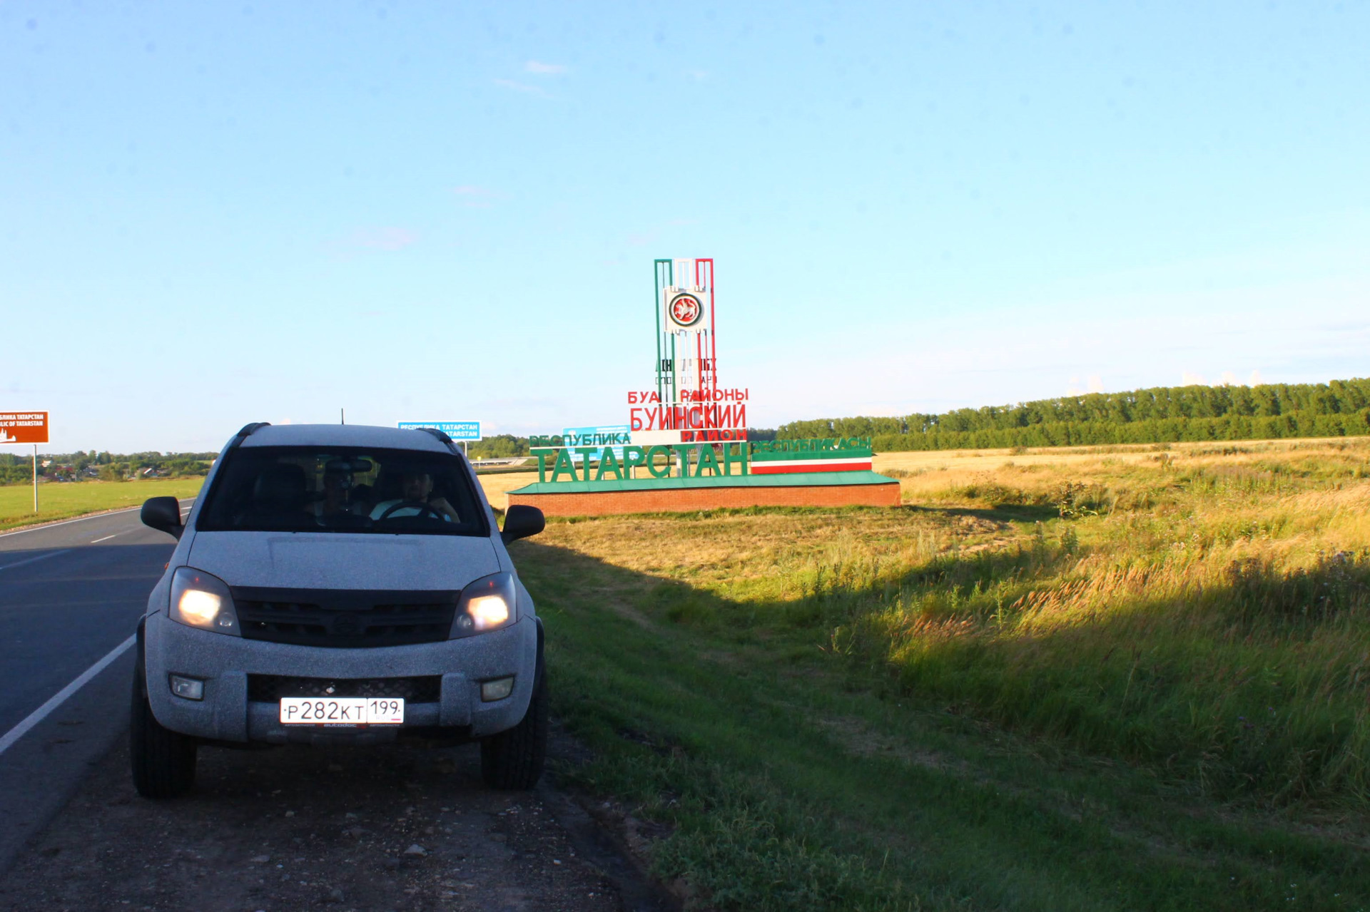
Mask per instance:
[[[1370,905],[1370,441],[877,468],[514,545],[563,774],[689,905]]]

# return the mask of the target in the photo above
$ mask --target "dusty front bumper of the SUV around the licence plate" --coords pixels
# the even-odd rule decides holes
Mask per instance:
[[[400,729],[466,730],[481,738],[512,729],[533,696],[537,622],[523,616],[506,627],[462,639],[326,649],[229,637],[149,615],[144,631],[148,700],[156,720],[173,731],[215,741],[266,744],[367,744],[393,741]],[[177,697],[170,675],[204,681],[203,700]],[[248,700],[248,675],[375,679],[441,676],[437,702],[407,702],[403,726],[322,729],[282,726],[277,702]],[[514,676],[504,700],[481,701],[481,682]]]

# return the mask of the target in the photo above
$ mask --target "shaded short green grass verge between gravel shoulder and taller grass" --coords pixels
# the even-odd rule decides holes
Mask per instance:
[[[1355,909],[1370,897],[1363,853],[1336,835],[1219,813],[1145,771],[881,696],[804,637],[670,620],[745,624],[744,605],[536,544],[518,559],[541,597],[556,711],[596,753],[569,774],[660,824],[658,872],[715,908]]]

